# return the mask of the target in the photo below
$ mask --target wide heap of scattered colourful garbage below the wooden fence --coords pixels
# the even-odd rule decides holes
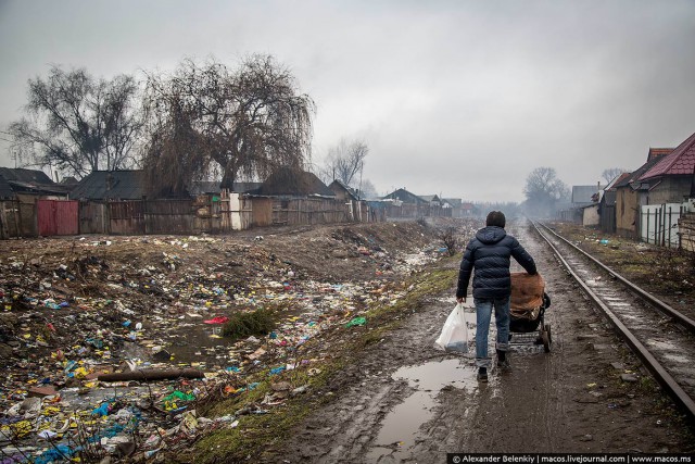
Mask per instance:
[[[370,305],[395,303],[402,277],[442,255],[419,226],[381,227],[410,254],[345,228],[3,242],[0,462],[156,459],[304,393],[274,379],[320,372],[301,347],[367,324]],[[273,330],[225,336],[230,318],[260,309],[273,312]],[[197,413],[263,381],[268,393],[252,407]]]

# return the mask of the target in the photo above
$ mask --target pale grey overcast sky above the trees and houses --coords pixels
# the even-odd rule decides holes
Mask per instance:
[[[51,64],[141,77],[251,53],[316,102],[314,163],[364,140],[380,195],[521,201],[535,167],[593,185],[695,133],[695,0],[0,0],[0,130]]]

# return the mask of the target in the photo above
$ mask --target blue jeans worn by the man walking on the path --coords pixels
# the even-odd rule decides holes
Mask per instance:
[[[509,299],[506,298],[473,298],[476,304],[476,365],[490,367],[492,360],[488,355],[488,334],[492,319],[492,308],[495,309],[495,325],[497,326],[497,342],[495,349],[509,349]]]

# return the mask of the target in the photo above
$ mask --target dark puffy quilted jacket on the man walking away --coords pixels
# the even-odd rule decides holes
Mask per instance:
[[[460,262],[456,298],[466,296],[473,268],[473,298],[509,297],[509,256],[514,256],[527,273],[536,273],[533,258],[502,227],[488,226],[478,230],[476,237],[468,242]]]

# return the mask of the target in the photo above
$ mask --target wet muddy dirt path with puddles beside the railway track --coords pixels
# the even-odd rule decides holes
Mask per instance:
[[[443,463],[447,452],[693,451],[692,436],[670,401],[549,249],[526,227],[509,231],[536,260],[553,299],[546,317],[552,352],[518,347],[510,373],[493,369],[490,383],[479,385],[470,356],[432,348],[454,304],[452,283],[447,294],[432,298],[404,328],[342,373],[344,393],[296,428],[282,446],[283,462]],[[475,314],[468,317],[475,322]],[[626,371],[639,380],[623,383]]]

